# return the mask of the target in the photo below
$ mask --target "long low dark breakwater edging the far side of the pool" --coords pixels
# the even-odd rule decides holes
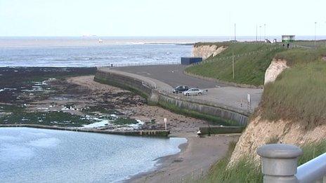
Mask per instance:
[[[26,128],[43,128],[49,130],[68,130],[74,132],[86,132],[86,133],[105,133],[112,135],[131,135],[131,136],[151,136],[151,137],[167,137],[170,133],[169,130],[132,130],[132,131],[115,131],[115,130],[100,130],[90,128],[71,128],[60,126],[42,126],[35,124],[6,124],[0,125],[0,128],[5,127],[26,127]]]

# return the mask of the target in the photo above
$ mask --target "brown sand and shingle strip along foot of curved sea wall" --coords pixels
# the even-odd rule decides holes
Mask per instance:
[[[97,83],[93,81],[93,76],[78,76],[67,79],[67,82],[79,86],[89,88],[93,98],[104,95],[105,93],[130,93],[127,90],[122,90],[114,86]],[[137,95],[136,95],[137,96]],[[129,100],[137,100],[138,97],[131,97]],[[167,109],[162,109],[157,106],[149,106],[145,102],[138,102],[136,104],[122,104],[124,97],[107,98],[105,102],[115,104],[115,109],[129,116],[130,118],[139,119],[145,122],[143,130],[162,130],[164,129],[164,118],[168,121],[168,130],[171,131],[172,137],[188,137],[195,136],[197,130],[202,126],[208,126],[207,121],[190,118],[180,114],[175,114]],[[133,102],[129,102],[133,103]],[[154,122],[152,122],[154,121]]]

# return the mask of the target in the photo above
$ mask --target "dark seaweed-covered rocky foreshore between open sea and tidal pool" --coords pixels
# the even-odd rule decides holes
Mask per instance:
[[[206,121],[148,106],[143,97],[93,81],[93,68],[0,68],[0,124],[165,130],[195,135]],[[77,76],[87,74],[89,76]],[[60,76],[60,77],[58,77]],[[6,78],[11,77],[8,82]]]

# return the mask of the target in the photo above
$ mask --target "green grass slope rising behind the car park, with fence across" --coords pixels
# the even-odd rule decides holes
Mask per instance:
[[[209,43],[206,43],[209,44]],[[185,69],[185,72],[196,74],[221,81],[232,83],[242,83],[253,86],[263,85],[263,79],[266,69],[273,60],[276,53],[285,50],[278,45],[268,43],[212,43],[218,46],[228,46],[219,55],[209,57],[202,64],[194,65]],[[198,43],[204,45],[204,43]],[[275,47],[276,46],[276,47]],[[270,50],[272,48],[272,50]],[[276,49],[273,49],[276,48]],[[241,55],[244,53],[253,53],[259,50],[259,53],[252,55],[242,55],[235,57],[235,79],[233,79],[232,53]],[[221,60],[223,57],[228,59]]]

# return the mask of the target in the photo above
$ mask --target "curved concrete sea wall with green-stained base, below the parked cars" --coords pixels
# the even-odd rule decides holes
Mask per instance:
[[[196,116],[223,118],[228,121],[227,123],[230,126],[247,126],[249,116],[247,111],[233,109],[232,107],[214,102],[165,93],[157,90],[155,84],[150,83],[145,77],[139,77],[141,79],[129,73],[124,74],[123,72],[116,72],[111,69],[98,69],[94,81],[134,91],[147,98],[148,104],[159,104],[173,111],[183,110],[188,114],[197,114]]]

